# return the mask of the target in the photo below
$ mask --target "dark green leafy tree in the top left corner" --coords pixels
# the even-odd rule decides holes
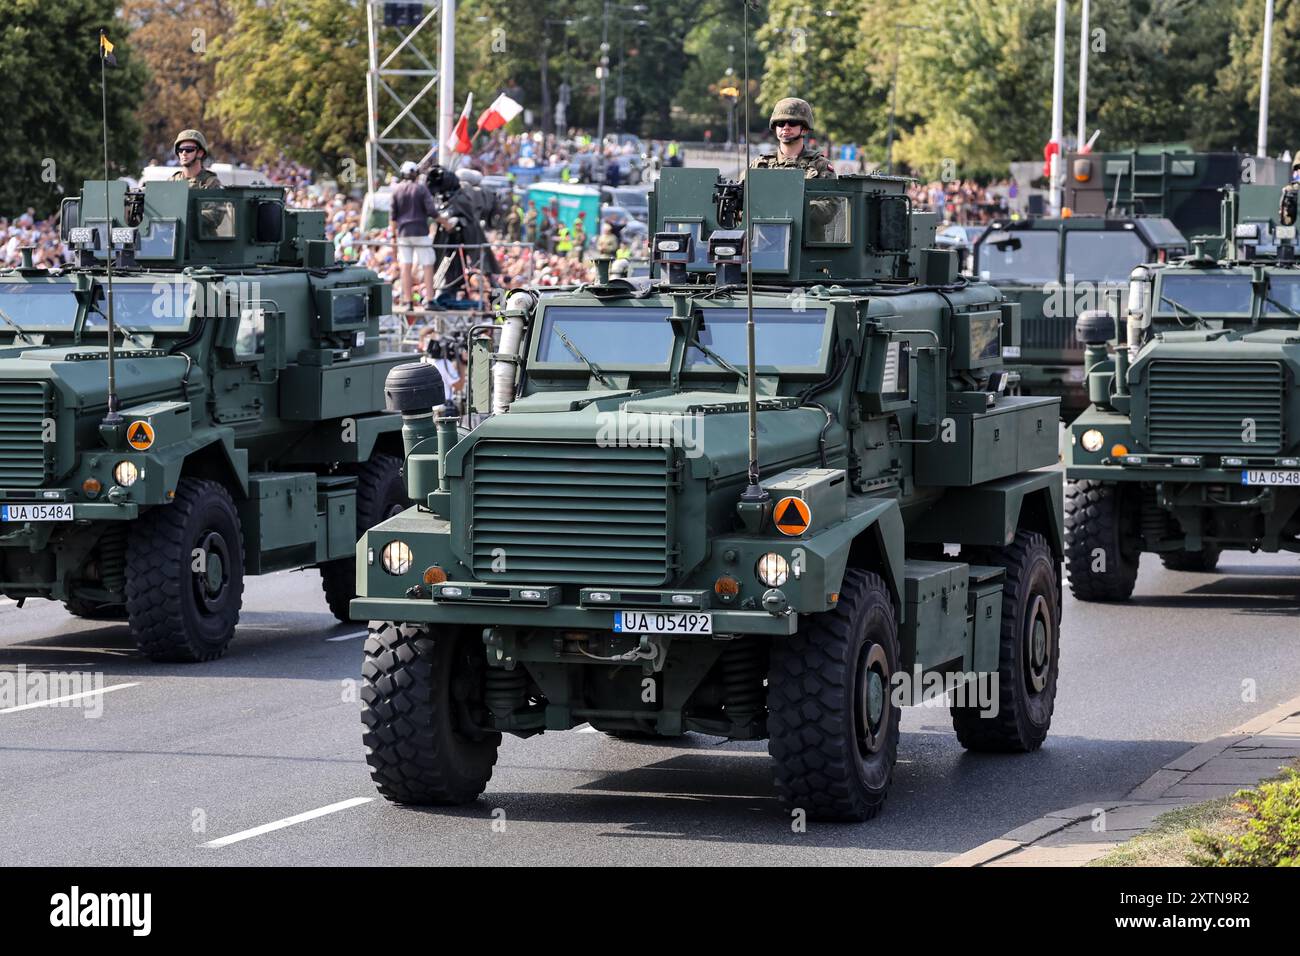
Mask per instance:
[[[0,215],[31,206],[48,216],[83,179],[104,178],[99,27],[118,68],[107,70],[109,176],[136,173],[135,107],[146,81],[113,0],[0,5]]]

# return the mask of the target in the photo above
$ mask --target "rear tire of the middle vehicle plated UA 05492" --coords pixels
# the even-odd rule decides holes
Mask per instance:
[[[952,708],[953,730],[967,750],[1036,750],[1056,706],[1061,657],[1061,575],[1037,532],[1017,532],[1006,548],[979,549],[972,564],[1002,567],[1002,628],[997,652],[997,713]]]

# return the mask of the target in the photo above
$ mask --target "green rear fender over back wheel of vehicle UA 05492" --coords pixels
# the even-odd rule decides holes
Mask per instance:
[[[920,544],[961,541],[1005,548],[1015,532],[1040,532],[1065,558],[1065,493],[1060,471],[1031,471],[971,488],[949,488],[909,529]]]

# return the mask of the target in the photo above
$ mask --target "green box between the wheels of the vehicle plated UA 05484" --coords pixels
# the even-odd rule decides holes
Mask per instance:
[[[315,475],[255,472],[248,476],[248,499],[238,506],[250,574],[316,562]]]

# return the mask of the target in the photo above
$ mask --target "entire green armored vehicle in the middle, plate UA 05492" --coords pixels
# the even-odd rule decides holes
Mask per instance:
[[[417,505],[365,533],[352,602],[385,797],[472,801],[502,734],[590,724],[767,737],[789,808],[864,819],[927,685],[967,748],[1043,743],[1057,402],[1005,393],[1017,307],[927,248],[906,185],[666,169],[656,280],[515,293],[478,339],[497,414],[458,431],[428,371],[390,376]]]

